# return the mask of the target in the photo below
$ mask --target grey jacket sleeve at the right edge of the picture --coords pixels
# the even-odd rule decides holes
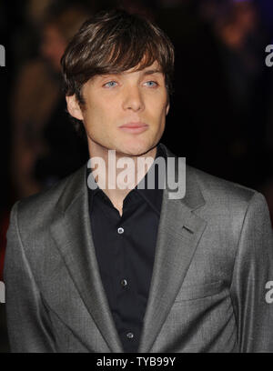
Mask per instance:
[[[230,287],[242,353],[273,353],[272,288],[272,227],[266,200],[255,193],[241,228]]]

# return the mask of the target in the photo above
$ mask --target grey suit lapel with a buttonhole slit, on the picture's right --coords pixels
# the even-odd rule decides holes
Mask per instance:
[[[165,149],[167,156],[175,156]],[[183,199],[169,199],[168,189],[164,190],[155,263],[138,352],[149,352],[155,343],[207,224],[193,212],[205,201],[196,179],[188,170]]]

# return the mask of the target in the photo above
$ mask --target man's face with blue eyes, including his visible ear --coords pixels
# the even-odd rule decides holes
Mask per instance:
[[[165,77],[157,62],[140,71],[96,75],[82,93],[84,109],[74,95],[66,100],[69,113],[84,121],[89,148],[143,155],[157,145],[168,111]]]

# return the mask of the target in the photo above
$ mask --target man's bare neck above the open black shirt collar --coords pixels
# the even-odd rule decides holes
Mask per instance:
[[[135,188],[139,181],[147,174],[148,169],[157,155],[157,146],[143,155],[127,155],[113,150],[110,152],[108,148],[102,145],[96,145],[93,142],[92,145],[89,145],[89,155],[94,161],[95,157],[103,160],[105,167],[102,165],[92,166],[93,175],[97,185],[105,192],[106,196],[109,197],[112,204],[119,211],[119,214],[122,215],[123,201],[126,195]],[[120,160],[124,157],[128,159],[132,166]],[[141,161],[144,161],[147,157],[151,157],[152,161],[147,162],[146,166],[137,166],[137,163],[140,163],[140,158],[142,158]],[[122,164],[122,168],[117,168],[116,164],[118,161],[119,166]],[[122,188],[125,189],[120,187],[120,180],[124,181]]]

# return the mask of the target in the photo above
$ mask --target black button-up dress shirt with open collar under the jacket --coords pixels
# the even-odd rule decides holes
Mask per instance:
[[[157,146],[159,155],[165,156]],[[124,199],[122,216],[102,189],[88,187],[96,259],[125,352],[137,352],[153,272],[163,196],[154,167],[155,189],[132,189]]]

